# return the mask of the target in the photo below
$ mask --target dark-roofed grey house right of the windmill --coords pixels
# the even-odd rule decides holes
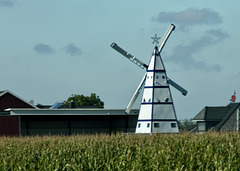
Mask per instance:
[[[197,131],[239,131],[240,103],[230,103],[227,106],[203,108],[194,118]]]

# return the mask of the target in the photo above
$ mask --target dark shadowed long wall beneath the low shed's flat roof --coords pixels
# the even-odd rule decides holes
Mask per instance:
[[[137,115],[21,116],[21,135],[135,132]]]

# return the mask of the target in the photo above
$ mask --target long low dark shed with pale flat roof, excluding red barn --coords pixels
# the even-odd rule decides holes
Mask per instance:
[[[7,109],[19,118],[19,135],[73,135],[135,132],[139,110]]]

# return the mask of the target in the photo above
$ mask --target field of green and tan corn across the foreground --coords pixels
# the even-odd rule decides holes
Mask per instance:
[[[206,169],[240,169],[240,134],[0,137],[0,170]]]

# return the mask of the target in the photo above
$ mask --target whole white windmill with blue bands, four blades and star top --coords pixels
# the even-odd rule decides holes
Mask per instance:
[[[126,52],[116,43],[111,44],[111,47],[123,56],[127,57],[139,67],[147,69],[147,72],[125,110],[126,113],[130,112],[131,107],[136,101],[145,83],[136,126],[136,133],[179,132],[169,84],[179,90],[183,95],[186,95],[187,91],[167,77],[166,70],[160,56],[168,37],[174,29],[175,25],[171,24],[159,47],[155,46],[149,65],[146,65],[130,53]],[[153,39],[154,42],[158,43],[159,38],[157,38],[157,35],[155,35]]]

